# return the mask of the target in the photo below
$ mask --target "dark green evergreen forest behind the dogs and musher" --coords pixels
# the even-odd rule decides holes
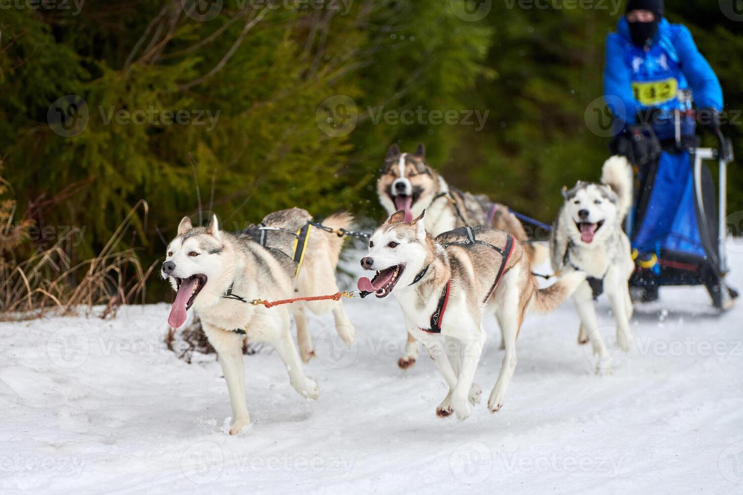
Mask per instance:
[[[724,3],[667,1],[666,10],[671,22],[690,27],[718,73],[735,119],[724,132],[743,149],[743,13]],[[403,151],[424,142],[429,163],[453,185],[548,223],[562,186],[598,178],[609,138],[591,107],[602,95],[604,39],[623,5],[273,4],[88,0],[79,11],[72,0],[4,4],[2,223],[51,226],[49,236],[63,226],[83,229],[68,254],[87,259],[143,199],[148,214],[135,215],[120,242],[149,266],[178,220],[198,220],[200,209],[228,228],[290,206],[319,218],[350,209],[380,220],[374,184],[392,142]],[[76,97],[60,100],[67,95]],[[191,123],[106,122],[112,112],[137,110],[186,111]],[[426,117],[376,118],[404,110]],[[474,125],[436,125],[432,111],[488,113],[479,129],[474,117]],[[213,128],[207,114],[217,116]],[[738,165],[730,168],[729,198],[730,212],[743,210]],[[54,241],[26,237],[13,253],[6,243],[4,255]],[[152,300],[164,297],[160,285]]]

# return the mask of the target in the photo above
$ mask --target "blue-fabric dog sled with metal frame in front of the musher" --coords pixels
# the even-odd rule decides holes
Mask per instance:
[[[672,139],[658,133],[656,142],[663,146],[657,159],[635,162],[635,203],[626,222],[636,264],[630,292],[633,299],[649,302],[658,298],[661,286],[704,285],[713,306],[724,311],[738,297],[726,282],[727,165],[733,162],[732,142],[718,131],[719,148],[699,148],[693,124],[691,135],[682,132],[695,120],[693,111],[671,116]],[[718,162],[717,191],[707,166],[710,161]]]

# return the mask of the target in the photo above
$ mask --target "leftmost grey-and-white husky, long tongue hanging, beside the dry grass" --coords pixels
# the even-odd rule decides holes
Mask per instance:
[[[264,219],[266,226],[287,230],[303,226],[310,215],[301,209],[285,210]],[[325,220],[328,226],[347,226],[351,217],[340,214]],[[299,228],[299,227],[298,227]],[[277,231],[279,232],[279,231]],[[279,249],[267,249],[248,234],[232,234],[219,229],[212,217],[207,227],[194,227],[188,217],[178,226],[178,236],[169,244],[162,266],[163,278],[169,279],[176,291],[168,323],[178,328],[186,321],[186,311],[193,308],[201,318],[204,332],[219,355],[227,381],[233,410],[230,434],[239,433],[249,422],[245,402],[245,376],[242,346],[248,342],[265,341],[274,347],[289,373],[292,387],[308,399],[317,399],[317,383],[305,376],[290,332],[291,312],[288,306],[252,306],[252,299],[279,300],[292,298],[302,291],[322,293],[335,290],[334,272],[342,239],[333,234],[313,230],[302,263],[307,278],[296,277],[296,263]],[[315,277],[315,278],[313,278]],[[315,285],[313,285],[315,284]],[[318,292],[314,292],[317,294]],[[338,304],[333,301],[332,304]],[[342,338],[354,339],[354,331],[342,306],[308,304],[314,312],[334,310]],[[297,332],[305,342],[305,358],[311,353],[306,318],[297,316],[301,306],[293,307]]]

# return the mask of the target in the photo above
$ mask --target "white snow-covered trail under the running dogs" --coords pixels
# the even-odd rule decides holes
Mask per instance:
[[[730,282],[742,288],[735,247]],[[276,355],[245,358],[253,428],[239,437],[225,433],[214,356],[186,364],[166,349],[166,304],[114,321],[0,323],[0,491],[743,491],[743,303],[718,317],[704,289],[662,289],[636,309],[637,346],[614,354],[612,376],[596,376],[577,345],[571,303],[530,315],[503,410],[479,404],[466,422],[435,416],[446,389],[424,355],[398,369],[394,298],[345,304],[354,347],[331,318],[311,324],[317,402],[291,389]],[[599,309],[611,327],[606,298]],[[484,399],[502,360],[496,324],[487,329]]]

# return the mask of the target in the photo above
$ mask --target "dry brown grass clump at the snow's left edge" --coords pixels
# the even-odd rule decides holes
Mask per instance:
[[[155,265],[146,271],[134,249],[116,251],[137,212],[147,215],[140,200],[126,215],[100,254],[73,264],[63,249],[76,232],[68,232],[49,249],[39,250],[27,260],[0,258],[0,321],[38,318],[46,312],[71,315],[104,305],[101,318],[116,315],[123,304],[144,301],[145,282]]]

